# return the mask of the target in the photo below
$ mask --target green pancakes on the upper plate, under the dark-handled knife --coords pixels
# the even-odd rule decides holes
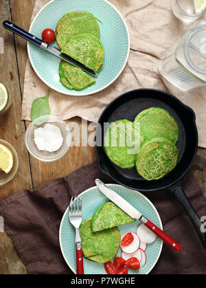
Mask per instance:
[[[56,42],[62,53],[99,72],[104,62],[104,47],[100,41],[100,27],[93,14],[74,11],[65,14],[56,26]],[[82,69],[62,60],[60,82],[68,89],[83,90],[95,80]]]

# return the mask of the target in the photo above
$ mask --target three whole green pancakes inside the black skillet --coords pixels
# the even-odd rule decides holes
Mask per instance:
[[[119,125],[119,122],[123,125],[129,121],[117,120],[111,123],[104,136],[104,151],[111,162],[121,168],[135,166],[137,173],[148,181],[161,179],[174,169],[179,155],[176,148],[179,127],[168,111],[160,107],[150,107],[137,115],[132,129],[119,129],[114,133],[113,127]],[[133,137],[138,129],[139,139]],[[140,142],[137,152],[133,149],[133,153],[130,153],[129,142],[124,145],[119,143],[125,133],[130,134],[133,142]],[[117,145],[114,145],[115,141]]]

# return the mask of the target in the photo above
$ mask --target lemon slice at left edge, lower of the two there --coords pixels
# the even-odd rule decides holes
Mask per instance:
[[[0,144],[0,169],[9,173],[13,166],[13,155],[10,149]]]

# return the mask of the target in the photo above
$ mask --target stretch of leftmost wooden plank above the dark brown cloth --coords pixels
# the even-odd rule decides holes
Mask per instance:
[[[10,5],[8,1],[1,1],[1,22],[10,19]],[[8,184],[1,187],[0,200],[19,192],[23,188],[32,188],[30,165],[24,136],[25,126],[21,122],[21,94],[19,77],[16,68],[16,54],[12,33],[0,25],[0,35],[4,42],[4,54],[0,54],[0,80],[10,88],[13,104],[10,110],[1,116],[1,139],[10,142],[19,155],[19,169],[16,176]]]

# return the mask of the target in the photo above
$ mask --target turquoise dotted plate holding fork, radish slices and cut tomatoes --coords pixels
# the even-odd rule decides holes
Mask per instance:
[[[145,217],[150,219],[159,228],[163,229],[161,219],[155,206],[144,195],[140,192],[130,190],[117,184],[108,184],[108,186],[126,199],[126,201],[133,204],[135,208],[137,208]],[[109,201],[108,198],[106,198],[106,196],[104,196],[96,186],[82,192],[82,220],[92,217],[95,210],[97,210],[98,207],[106,201]],[[133,223],[121,225],[117,228],[122,236],[126,232],[137,232],[137,226],[139,223],[139,220],[136,220]],[[59,241],[62,255],[64,256],[67,265],[69,265],[73,273],[76,273],[75,229],[69,222],[68,208],[60,223]],[[157,238],[154,243],[148,244],[146,248],[146,265],[141,267],[138,271],[129,269],[128,273],[148,274],[157,263],[161,254],[161,248],[162,241],[159,238]],[[116,256],[121,256],[120,247]],[[95,263],[84,258],[84,274],[106,274],[104,264]]]

